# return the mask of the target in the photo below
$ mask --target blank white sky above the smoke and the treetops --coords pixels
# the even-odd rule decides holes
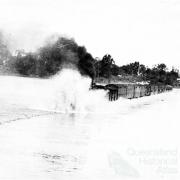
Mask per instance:
[[[0,0],[0,29],[15,49],[60,34],[118,65],[180,67],[180,0]]]

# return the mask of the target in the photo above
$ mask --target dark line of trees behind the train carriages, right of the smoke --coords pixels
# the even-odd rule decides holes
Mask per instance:
[[[179,70],[172,68],[170,71],[164,63],[149,68],[135,61],[123,66],[117,66],[111,55],[105,55],[102,60],[95,63],[96,76],[111,78],[111,76],[134,76],[150,84],[173,85],[179,77]]]

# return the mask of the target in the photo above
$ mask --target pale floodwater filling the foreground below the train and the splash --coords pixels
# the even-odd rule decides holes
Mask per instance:
[[[82,112],[32,108],[29,96],[21,103],[8,92],[0,95],[0,179],[179,179],[180,90],[108,104],[96,98]]]

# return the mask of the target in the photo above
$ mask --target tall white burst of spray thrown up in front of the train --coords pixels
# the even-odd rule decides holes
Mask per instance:
[[[65,69],[52,79],[55,111],[94,111],[95,104],[105,102],[104,91],[90,91],[91,79],[83,77],[76,70]]]

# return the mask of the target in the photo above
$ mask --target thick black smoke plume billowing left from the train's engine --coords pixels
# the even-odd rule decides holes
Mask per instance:
[[[59,37],[34,53],[18,52],[14,68],[20,75],[32,77],[50,77],[63,68],[73,68],[93,78],[94,63],[94,58],[85,47],[79,46],[74,39]]]

